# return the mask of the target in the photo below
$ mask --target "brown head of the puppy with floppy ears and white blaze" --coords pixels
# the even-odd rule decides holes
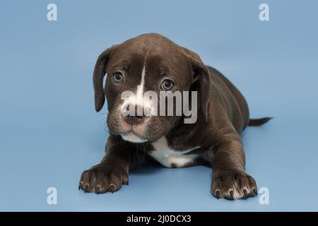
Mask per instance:
[[[158,101],[154,106],[152,97],[146,100],[145,93],[160,97],[160,91],[196,90],[199,92],[198,113],[204,120],[208,117],[211,88],[208,70],[197,54],[162,35],[140,35],[106,49],[95,64],[93,84],[96,111],[102,109],[106,95],[110,133],[120,135],[126,141],[155,141],[169,133],[183,117],[145,114],[160,104]],[[134,114],[127,114],[131,107],[136,108],[132,111]]]

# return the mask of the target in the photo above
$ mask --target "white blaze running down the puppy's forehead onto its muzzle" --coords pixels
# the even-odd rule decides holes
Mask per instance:
[[[122,114],[142,115],[143,113],[145,114],[149,110],[153,112],[151,101],[148,98],[144,98],[145,77],[146,77],[146,64],[143,66],[143,69],[141,71],[141,82],[139,83],[139,85],[137,85],[136,91],[133,92],[131,90],[128,90],[122,93],[122,100],[124,100],[124,102],[121,105]],[[127,106],[129,106],[129,111],[127,111],[126,109]],[[135,106],[137,106],[137,112],[134,112]]]

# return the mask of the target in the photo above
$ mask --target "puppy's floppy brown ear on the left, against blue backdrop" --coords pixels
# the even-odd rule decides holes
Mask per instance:
[[[114,47],[116,46],[117,45],[113,45],[112,47],[102,52],[95,64],[95,69],[93,73],[93,85],[95,91],[95,109],[97,112],[99,112],[100,109],[102,109],[102,106],[105,103],[105,93],[102,81],[106,73],[107,61],[110,58],[110,54],[114,51]]]

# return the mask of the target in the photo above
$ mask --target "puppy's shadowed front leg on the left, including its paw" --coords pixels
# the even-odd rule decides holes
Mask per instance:
[[[78,189],[99,194],[118,191],[122,184],[128,184],[129,171],[142,160],[143,155],[139,150],[131,150],[121,139],[110,135],[105,157],[100,164],[82,173]]]

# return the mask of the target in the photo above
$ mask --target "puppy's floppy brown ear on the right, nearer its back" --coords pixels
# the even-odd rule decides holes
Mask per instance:
[[[208,121],[208,103],[210,101],[212,86],[210,73],[208,72],[208,69],[204,63],[201,61],[201,58],[198,54],[184,47],[181,47],[181,49],[192,65],[194,82],[197,81],[199,83],[199,98],[201,100],[201,105],[198,106],[201,106],[202,112],[204,114],[204,121],[206,122]]]

